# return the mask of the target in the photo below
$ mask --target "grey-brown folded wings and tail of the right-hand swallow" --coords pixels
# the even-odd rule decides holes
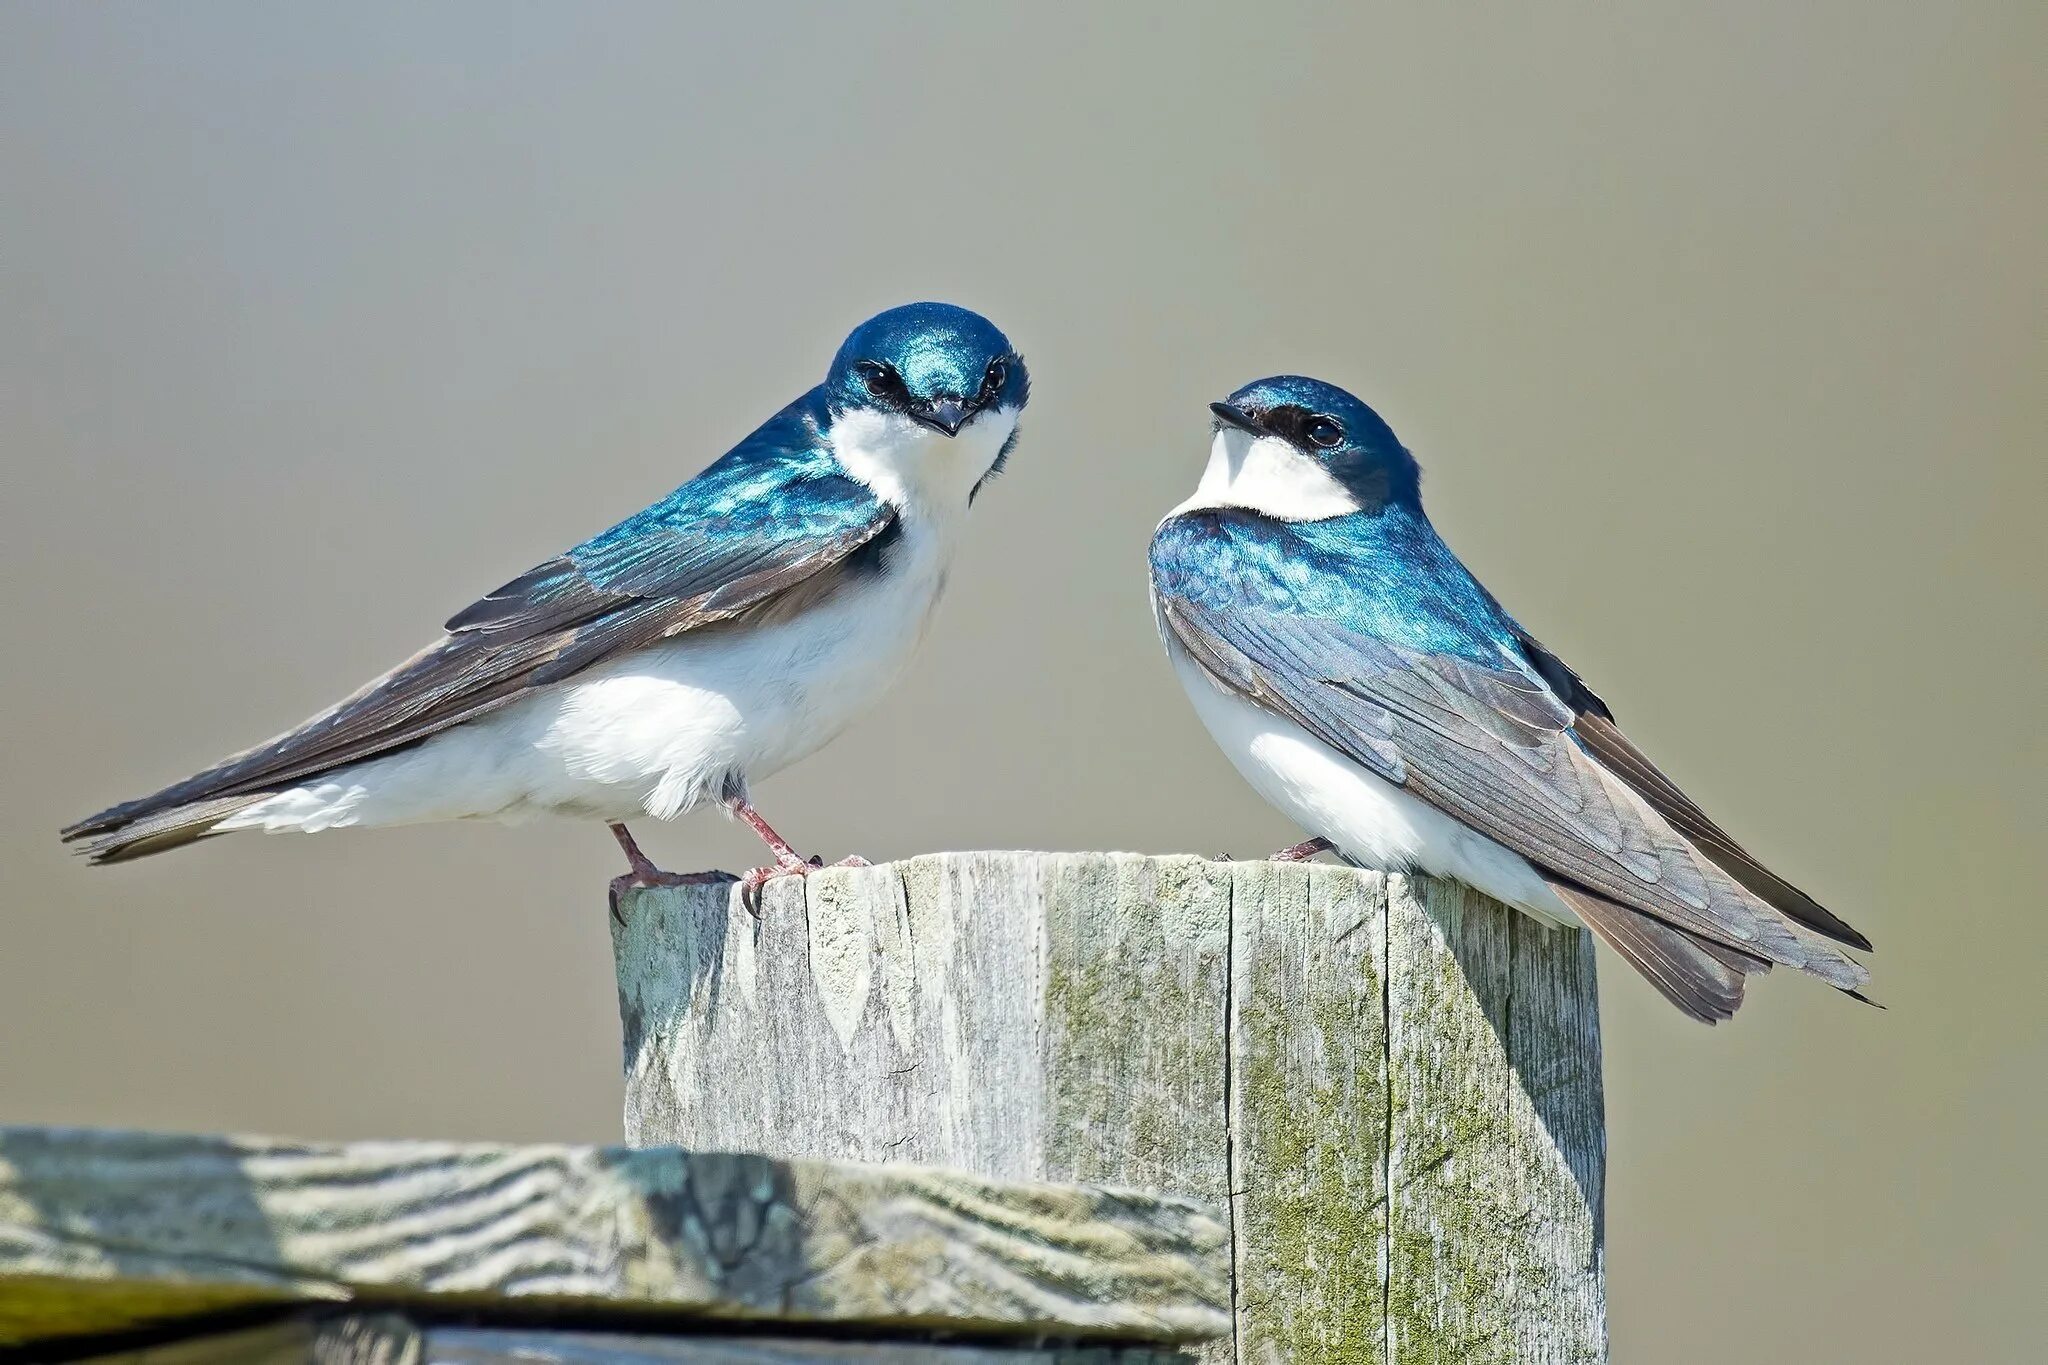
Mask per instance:
[[[1726,1017],[1743,974],[1774,962],[1843,990],[1868,978],[1716,862],[1733,841],[1640,759],[1597,698],[1573,706],[1534,659],[1481,665],[1286,606],[1157,591],[1174,639],[1221,686],[1528,857],[1688,1013]]]

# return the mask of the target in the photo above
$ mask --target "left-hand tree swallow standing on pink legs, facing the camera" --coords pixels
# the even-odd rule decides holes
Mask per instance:
[[[748,784],[831,741],[901,675],[1016,444],[1024,360],[985,317],[911,303],[662,501],[457,612],[442,639],[266,745],[63,831],[96,864],[242,829],[625,821],[721,802],[805,862]]]

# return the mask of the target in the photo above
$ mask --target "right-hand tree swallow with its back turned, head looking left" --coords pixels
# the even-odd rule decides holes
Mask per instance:
[[[1430,526],[1356,397],[1262,379],[1212,403],[1153,608],[1202,724],[1309,843],[1585,925],[1694,1019],[1784,964],[1855,995],[1870,939],[1767,872],[1636,749]],[[1862,999],[1858,995],[1858,999]]]

